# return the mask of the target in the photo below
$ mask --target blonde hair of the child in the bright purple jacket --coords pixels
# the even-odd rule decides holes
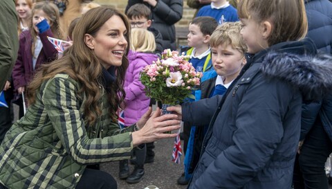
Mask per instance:
[[[156,50],[154,34],[143,28],[132,28],[131,50],[142,53],[154,52]]]

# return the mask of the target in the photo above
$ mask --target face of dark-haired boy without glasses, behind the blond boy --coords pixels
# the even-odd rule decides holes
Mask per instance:
[[[206,45],[209,40],[207,37],[201,32],[201,28],[196,24],[189,25],[189,33],[187,35],[188,46],[199,48],[201,46]]]

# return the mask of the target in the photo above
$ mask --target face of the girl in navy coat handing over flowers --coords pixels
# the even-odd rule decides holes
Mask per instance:
[[[248,53],[258,53],[259,51],[268,48],[267,37],[261,33],[261,26],[253,19],[241,19],[243,28],[241,35],[248,46]]]

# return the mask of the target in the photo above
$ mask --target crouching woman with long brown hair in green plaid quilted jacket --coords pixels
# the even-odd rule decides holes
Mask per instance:
[[[130,26],[109,7],[78,21],[73,46],[42,66],[28,87],[30,107],[0,146],[0,183],[8,188],[117,188],[107,172],[86,165],[129,159],[133,147],[180,128],[176,115],[151,108],[119,129]],[[151,116],[150,116],[151,114]],[[143,127],[144,126],[144,127]]]

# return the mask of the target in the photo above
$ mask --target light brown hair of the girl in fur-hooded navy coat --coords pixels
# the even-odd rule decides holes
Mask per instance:
[[[306,36],[308,21],[304,0],[241,0],[237,6],[241,19],[252,19],[261,24],[270,21],[273,25],[268,45],[295,41]]]

